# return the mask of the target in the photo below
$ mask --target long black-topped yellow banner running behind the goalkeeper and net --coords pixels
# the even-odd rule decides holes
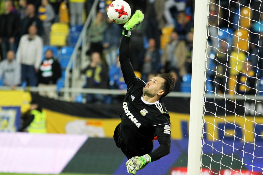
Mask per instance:
[[[119,114],[121,112],[121,103],[116,104],[82,104],[62,102],[32,94],[32,98],[37,100],[41,106],[47,109],[47,128],[49,133],[72,133],[87,134],[90,137],[112,138],[114,129],[120,123]],[[165,99],[165,98],[164,98]],[[230,103],[230,102],[229,102]],[[249,100],[239,101],[241,103],[250,103]],[[166,109],[170,114],[171,137],[173,139],[187,139],[189,128],[189,98],[166,98]],[[223,105],[223,101],[217,102]],[[257,104],[260,108],[261,103]],[[246,105],[249,107],[249,104]],[[208,103],[208,108],[214,108]],[[231,103],[228,108],[231,107]],[[204,128],[204,139],[213,140],[233,140],[244,142],[263,142],[263,118],[252,114],[250,111],[245,114],[245,109],[239,108],[235,115],[229,113],[222,115],[222,108],[217,108],[215,114],[206,114],[206,123]],[[252,108],[251,105],[249,108]],[[246,110],[249,111],[249,110]],[[262,112],[263,113],[263,112]],[[219,115],[220,114],[220,115]],[[228,121],[228,122],[226,122]],[[244,129],[245,128],[245,129]]]

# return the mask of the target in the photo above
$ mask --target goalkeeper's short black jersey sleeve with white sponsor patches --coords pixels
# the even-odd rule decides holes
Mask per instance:
[[[159,115],[153,121],[152,126],[155,127],[156,136],[171,137],[170,129],[170,118],[169,115]]]

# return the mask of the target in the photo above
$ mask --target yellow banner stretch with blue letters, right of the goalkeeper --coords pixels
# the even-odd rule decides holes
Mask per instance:
[[[173,139],[188,138],[189,115],[181,113],[170,114],[171,133]],[[257,141],[263,141],[263,118],[243,117],[243,116],[205,116],[204,138],[213,140],[235,139],[254,142],[255,135]],[[256,134],[255,134],[256,133]]]

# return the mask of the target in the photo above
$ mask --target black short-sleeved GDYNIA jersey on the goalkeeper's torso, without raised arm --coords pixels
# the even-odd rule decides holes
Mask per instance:
[[[131,148],[149,148],[155,136],[171,137],[169,114],[162,100],[148,103],[142,98],[146,85],[136,76],[127,82],[122,104],[121,138]]]

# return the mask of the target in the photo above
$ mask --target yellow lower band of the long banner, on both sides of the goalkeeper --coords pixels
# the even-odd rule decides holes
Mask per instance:
[[[112,138],[115,127],[121,119],[81,118],[67,114],[45,110],[47,114],[48,133],[86,134],[89,137]],[[173,139],[188,138],[189,114],[169,112],[171,120],[171,137]],[[236,137],[253,142],[255,137],[255,122],[263,123],[261,117],[214,117],[206,116],[204,137],[213,139]],[[255,121],[255,122],[254,122]],[[245,128],[245,129],[244,129]],[[201,128],[200,128],[201,129]],[[235,133],[234,133],[235,131]],[[263,133],[263,129],[262,132]],[[261,134],[262,135],[262,134]],[[263,140],[263,137],[261,136]]]

